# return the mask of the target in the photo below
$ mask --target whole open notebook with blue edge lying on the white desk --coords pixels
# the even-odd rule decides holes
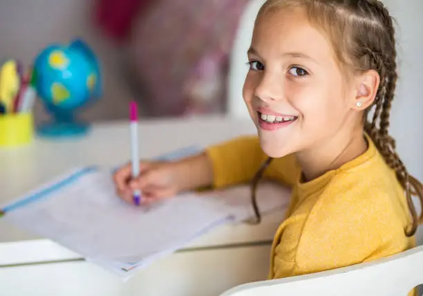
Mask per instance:
[[[189,147],[162,159],[196,151]],[[265,213],[285,203],[266,196],[259,206]],[[249,196],[221,198],[217,192],[184,192],[149,207],[135,207],[115,195],[112,172],[99,167],[66,172],[3,210],[9,223],[51,239],[122,279],[219,225],[253,213]]]

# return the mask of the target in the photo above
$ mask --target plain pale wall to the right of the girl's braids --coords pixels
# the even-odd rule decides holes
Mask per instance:
[[[423,181],[423,1],[384,0],[397,28],[400,81],[391,134],[411,174]]]

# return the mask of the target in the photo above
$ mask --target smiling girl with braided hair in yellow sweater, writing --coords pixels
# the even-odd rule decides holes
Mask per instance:
[[[256,19],[243,96],[259,137],[115,174],[144,201],[263,175],[292,187],[270,278],[350,266],[415,246],[408,175],[388,135],[397,82],[393,21],[377,0],[267,0]],[[373,109],[371,120],[368,112]],[[269,158],[270,157],[270,158]],[[261,165],[262,164],[262,165]],[[254,172],[259,172],[254,176]],[[265,198],[262,196],[261,198]],[[255,205],[257,218],[259,211]]]

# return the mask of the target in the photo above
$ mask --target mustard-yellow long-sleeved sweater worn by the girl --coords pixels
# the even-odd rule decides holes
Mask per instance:
[[[274,236],[270,279],[303,275],[386,257],[415,246],[400,183],[367,137],[367,151],[313,181],[301,182],[294,155],[274,159],[265,177],[292,187]],[[207,149],[214,187],[249,182],[267,158],[259,139],[242,137]],[[259,198],[265,198],[260,196]]]

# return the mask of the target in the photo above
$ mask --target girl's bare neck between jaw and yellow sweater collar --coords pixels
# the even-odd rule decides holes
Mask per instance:
[[[352,134],[335,133],[331,138],[315,143],[312,149],[297,152],[301,164],[303,180],[312,181],[332,169],[364,154],[368,147],[363,131],[357,129]]]

